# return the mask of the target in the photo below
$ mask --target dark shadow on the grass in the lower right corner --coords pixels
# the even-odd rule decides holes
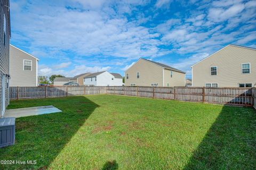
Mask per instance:
[[[256,169],[256,112],[223,106],[184,169]]]

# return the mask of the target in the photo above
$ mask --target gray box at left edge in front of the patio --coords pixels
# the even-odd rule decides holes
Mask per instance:
[[[0,118],[0,148],[14,145],[15,117]]]

